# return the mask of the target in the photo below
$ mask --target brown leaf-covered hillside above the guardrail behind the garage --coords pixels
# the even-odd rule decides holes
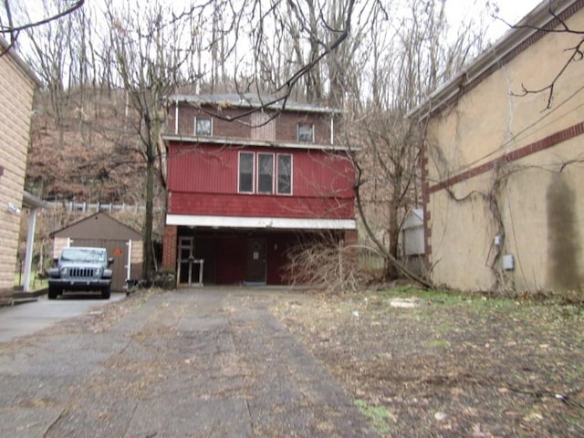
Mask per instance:
[[[140,139],[122,91],[36,95],[26,190],[47,201],[143,204]]]

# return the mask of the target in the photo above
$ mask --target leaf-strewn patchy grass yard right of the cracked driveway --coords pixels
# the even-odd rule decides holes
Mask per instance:
[[[276,316],[381,435],[584,436],[576,304],[416,287],[305,300]]]

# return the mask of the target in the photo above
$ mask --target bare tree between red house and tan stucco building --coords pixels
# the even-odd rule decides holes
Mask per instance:
[[[370,80],[359,78],[360,89],[353,93],[360,99],[348,114],[346,141],[361,148],[355,155],[358,210],[371,242],[386,258],[386,278],[405,275],[424,283],[399,262],[402,221],[422,201],[423,127],[406,114],[477,53],[482,38],[480,27],[467,23],[449,39],[444,0],[410,5],[406,16],[387,15],[371,26],[362,60]]]

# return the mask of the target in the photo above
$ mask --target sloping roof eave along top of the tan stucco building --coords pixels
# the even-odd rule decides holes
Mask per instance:
[[[451,103],[459,93],[474,88],[479,82],[504,66],[520,52],[534,44],[540,37],[547,35],[540,29],[558,26],[558,21],[551,16],[567,19],[583,7],[580,0],[544,0],[514,27],[506,31],[495,44],[476,57],[468,66],[445,82],[440,88],[425,99],[422,104],[411,110],[407,117],[425,119]],[[570,7],[572,6],[572,7]]]

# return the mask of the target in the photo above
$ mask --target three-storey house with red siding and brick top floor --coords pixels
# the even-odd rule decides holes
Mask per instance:
[[[178,284],[283,285],[287,250],[357,239],[339,110],[253,94],[173,96],[163,265]]]

